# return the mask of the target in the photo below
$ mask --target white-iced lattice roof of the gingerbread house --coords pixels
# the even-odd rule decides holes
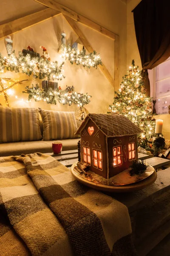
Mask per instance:
[[[90,113],[82,121],[82,124],[75,134],[80,134],[87,125],[89,119],[91,119],[99,130],[101,130],[107,137],[133,135],[143,132],[124,115]]]

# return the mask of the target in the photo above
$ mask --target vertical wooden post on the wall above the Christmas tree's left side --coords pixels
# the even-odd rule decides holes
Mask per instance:
[[[119,35],[116,35],[114,41],[114,80],[115,80],[115,90],[119,89]]]

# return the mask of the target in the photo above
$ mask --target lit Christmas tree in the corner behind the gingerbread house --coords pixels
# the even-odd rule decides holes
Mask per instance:
[[[113,105],[109,106],[111,114],[123,114],[142,129],[138,144],[145,148],[155,132],[155,119],[152,119],[152,101],[145,95],[144,81],[139,66],[134,60],[127,75],[123,77],[118,92],[115,92]]]

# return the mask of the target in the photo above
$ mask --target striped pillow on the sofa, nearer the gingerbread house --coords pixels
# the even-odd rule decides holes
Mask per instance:
[[[62,112],[40,109],[44,131],[42,140],[77,138],[77,123],[74,112]]]

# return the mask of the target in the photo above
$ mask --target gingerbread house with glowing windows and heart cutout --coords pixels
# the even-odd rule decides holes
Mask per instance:
[[[75,134],[81,136],[81,161],[105,178],[127,169],[138,158],[142,130],[123,115],[88,114]]]

